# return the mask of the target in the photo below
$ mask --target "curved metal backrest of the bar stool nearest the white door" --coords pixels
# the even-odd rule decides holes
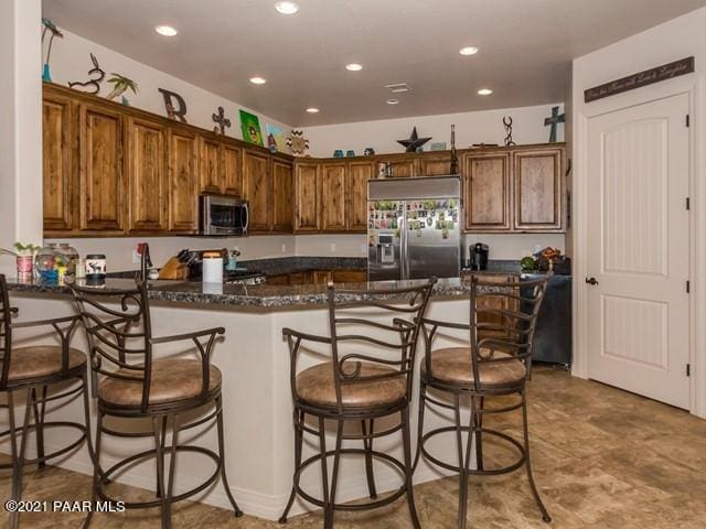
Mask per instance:
[[[549,276],[498,282],[471,278],[470,343],[475,389],[483,364],[520,359],[532,368],[534,333]]]

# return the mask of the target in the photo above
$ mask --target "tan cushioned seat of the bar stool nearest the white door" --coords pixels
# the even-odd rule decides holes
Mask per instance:
[[[481,355],[489,355],[489,349],[481,349]],[[493,358],[509,358],[511,355],[495,350]],[[421,363],[421,371],[426,373],[426,361]],[[437,380],[470,386],[474,384],[469,347],[448,347],[431,353],[431,374]],[[479,365],[480,384],[483,386],[514,386],[527,375],[521,360],[491,361]]]

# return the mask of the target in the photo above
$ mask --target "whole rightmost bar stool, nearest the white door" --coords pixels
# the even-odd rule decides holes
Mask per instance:
[[[548,278],[522,282],[482,281],[478,277],[470,284],[470,324],[422,321],[426,355],[421,365],[419,388],[419,435],[415,466],[420,454],[431,463],[459,473],[459,529],[467,526],[468,476],[506,474],[525,466],[530,487],[545,522],[552,521],[532,475],[530,436],[527,430],[526,381],[531,374],[532,345],[537,314],[546,291]],[[432,349],[439,330],[467,331],[469,345]],[[452,331],[451,331],[452,332]],[[450,395],[451,402],[428,395],[428,390]],[[496,397],[516,397],[515,401],[485,408]],[[469,424],[461,423],[461,398],[469,398]],[[424,432],[427,404],[452,410],[454,424]],[[522,411],[523,441],[483,425],[485,414]],[[467,432],[466,449],[462,433]],[[456,433],[458,464],[431,455],[426,443],[431,438]],[[518,458],[501,468],[485,468],[483,439],[491,435],[518,453]],[[475,445],[477,468],[471,469],[471,446]]]

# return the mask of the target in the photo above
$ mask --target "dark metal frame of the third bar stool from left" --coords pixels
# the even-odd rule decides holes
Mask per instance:
[[[291,509],[297,496],[300,496],[308,503],[321,507],[324,511],[323,527],[331,529],[333,527],[334,511],[362,511],[375,509],[392,504],[403,495],[407,496],[407,504],[415,529],[420,529],[419,519],[414,501],[413,493],[413,452],[411,452],[411,433],[409,427],[409,401],[411,396],[413,374],[415,366],[416,348],[420,334],[420,323],[426,313],[429,303],[429,296],[436,283],[436,278],[425,281],[420,285],[375,290],[338,290],[333,283],[328,285],[328,309],[329,309],[329,330],[330,336],[318,336],[313,334],[300,333],[291,328],[284,328],[282,334],[288,341],[290,350],[290,385],[291,396],[295,404],[293,425],[295,425],[295,474],[292,489],[280,523],[287,522],[287,516]],[[362,299],[362,301],[361,301]],[[385,301],[379,301],[384,299]],[[407,299],[407,305],[400,305],[400,299]],[[357,300],[357,301],[351,301]],[[351,309],[373,309],[382,313],[394,314],[392,324],[373,322],[361,317],[339,315],[340,311]],[[402,317],[407,316],[407,317]],[[341,333],[340,326],[354,325],[372,332],[373,330],[385,333],[393,333],[399,339],[398,343],[387,342],[368,336],[367,334],[350,334]],[[324,344],[331,347],[331,366],[333,369],[333,381],[335,386],[335,406],[322,407],[311,404],[300,398],[297,390],[297,366],[300,357],[302,344],[310,342],[314,344]],[[382,357],[372,357],[360,353],[350,353],[341,355],[340,345],[345,342],[366,343],[378,347],[378,349],[395,350],[400,354],[399,360],[383,359]],[[377,365],[392,367],[394,374],[362,376],[361,363],[374,363]],[[363,409],[351,408],[343,404],[342,391],[346,386],[353,384],[364,384],[375,380],[386,380],[392,377],[406,377],[405,396],[398,402],[392,406],[373,406]],[[395,413],[399,413],[400,421],[397,425],[386,429],[385,431],[375,432],[375,421]],[[307,424],[307,415],[315,419],[315,428]],[[327,450],[325,441],[325,420],[336,422],[336,440],[334,450]],[[344,424],[349,421],[356,421],[361,424],[361,433],[344,433]],[[377,438],[387,436],[395,432],[402,431],[404,461],[398,461],[389,454],[373,450],[373,441]],[[319,441],[319,453],[302,461],[303,434],[308,433]],[[362,449],[342,447],[343,441],[362,441]],[[336,504],[335,495],[339,477],[339,464],[341,455],[356,454],[363,455],[365,460],[365,472],[370,498],[372,501],[364,504]],[[331,483],[329,484],[328,463],[327,460],[333,457],[333,469]],[[403,485],[384,499],[377,499],[377,490],[375,488],[375,477],[373,473],[373,460],[383,460],[397,469],[399,469],[404,483]],[[315,498],[307,493],[300,486],[300,476],[304,468],[319,463],[321,466],[321,477],[323,484],[323,498]]]

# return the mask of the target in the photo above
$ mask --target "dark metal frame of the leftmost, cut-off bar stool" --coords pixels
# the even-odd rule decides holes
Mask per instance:
[[[33,322],[12,323],[12,316],[18,314],[19,310],[10,305],[7,279],[3,274],[0,274],[0,391],[4,392],[8,399],[8,403],[0,404],[0,408],[7,409],[9,415],[9,429],[0,432],[0,439],[8,435],[10,436],[11,454],[11,462],[0,464],[0,469],[12,468],[11,499],[15,501],[21,499],[22,477],[25,466],[36,464],[40,469],[44,468],[49,460],[78,449],[84,441],[87,441],[88,453],[93,458],[93,447],[90,435],[88,434],[90,428],[90,407],[88,402],[87,363],[84,361],[78,366],[69,366],[71,339],[81,317],[78,315],[71,315]],[[10,378],[10,368],[13,358],[12,331],[49,326],[54,330],[61,343],[61,370],[52,373],[51,375],[12,380]],[[58,393],[50,393],[50,388],[65,382],[69,382],[67,388],[62,388]],[[22,424],[18,425],[14,413],[15,393],[21,391],[24,391],[26,397],[24,419]],[[78,397],[83,397],[84,424],[73,421],[45,420],[47,402],[63,400],[63,404],[65,406]],[[30,423],[32,419],[33,422]],[[44,431],[52,428],[68,428],[78,431],[79,436],[68,445],[47,454],[44,447]],[[32,431],[35,432],[36,457],[28,460],[25,457],[26,440],[29,433]],[[21,438],[19,449],[18,435]],[[13,529],[19,527],[19,511],[17,510],[10,512],[10,527]]]

